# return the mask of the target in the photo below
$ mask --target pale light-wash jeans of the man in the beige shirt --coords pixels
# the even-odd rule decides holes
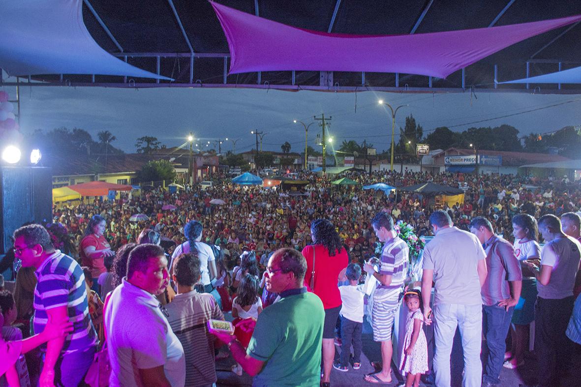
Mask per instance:
[[[464,351],[462,386],[482,384],[482,304],[437,304],[433,309],[435,353],[433,368],[437,387],[450,387],[450,354],[456,327],[460,328]]]

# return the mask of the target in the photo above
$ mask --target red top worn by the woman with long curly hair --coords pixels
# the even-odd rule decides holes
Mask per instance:
[[[305,284],[311,283],[313,273],[313,247],[315,252],[315,293],[321,299],[325,309],[336,308],[342,304],[337,282],[341,270],[349,264],[349,256],[345,248],[329,257],[327,248],[323,245],[305,246],[302,253],[307,260],[307,273],[304,275]]]

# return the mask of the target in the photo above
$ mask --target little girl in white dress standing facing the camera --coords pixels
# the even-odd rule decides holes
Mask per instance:
[[[406,338],[401,354],[400,370],[407,372],[406,387],[419,386],[419,378],[428,371],[428,342],[422,325],[424,314],[421,310],[421,295],[417,290],[404,294],[408,307],[406,318]]]

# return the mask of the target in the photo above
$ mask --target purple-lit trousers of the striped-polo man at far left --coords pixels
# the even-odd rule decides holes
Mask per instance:
[[[85,379],[85,374],[91,367],[96,347],[84,351],[76,351],[60,355],[55,364],[55,386],[77,387]],[[44,357],[43,364],[44,366]]]

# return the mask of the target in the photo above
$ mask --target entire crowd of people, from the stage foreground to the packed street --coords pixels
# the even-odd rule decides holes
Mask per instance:
[[[0,371],[9,385],[98,385],[99,360],[110,364],[105,377],[112,386],[211,386],[216,357],[231,353],[232,371],[246,372],[253,385],[327,386],[333,369],[361,367],[367,309],[382,359],[365,381],[389,384],[392,327],[403,298],[406,344],[397,349],[403,356],[396,366],[407,373],[406,385],[417,386],[430,370],[437,386],[450,385],[457,326],[464,385],[499,384],[503,366],[525,361],[532,321],[539,384],[571,382],[581,344],[579,299],[573,312],[581,291],[578,184],[512,175],[347,174],[360,185],[336,187],[306,173],[299,178],[309,185],[282,192],[239,187],[218,175],[207,189],[60,203],[51,223],[16,230],[14,248],[0,262],[16,278],[13,294],[0,294],[10,328],[0,351],[14,360]],[[437,209],[421,193],[361,189],[427,181],[463,189],[464,202]],[[132,221],[135,214],[144,216]],[[408,277],[398,221],[433,236],[421,281]],[[366,275],[376,285],[364,295]],[[231,329],[207,325],[229,316]],[[433,366],[424,335],[432,322]],[[48,343],[32,350],[24,344],[30,339],[21,341],[29,334],[37,334],[35,345]],[[26,361],[20,352],[28,352]]]

